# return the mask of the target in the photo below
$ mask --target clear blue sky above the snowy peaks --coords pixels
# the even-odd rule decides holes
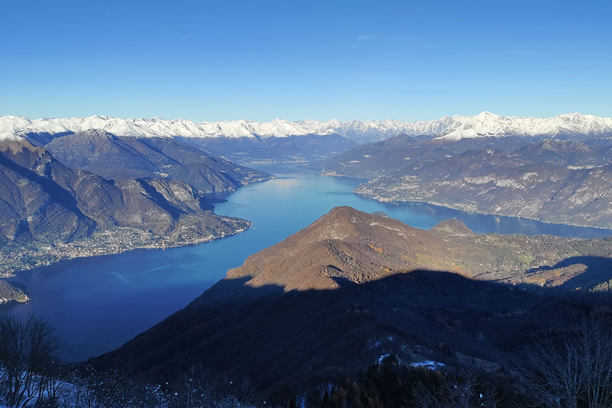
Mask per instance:
[[[2,2],[0,115],[612,116],[612,1]]]

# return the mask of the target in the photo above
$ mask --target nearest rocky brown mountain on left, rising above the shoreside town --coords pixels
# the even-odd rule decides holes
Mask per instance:
[[[111,226],[171,236],[179,226],[187,227],[184,215],[215,218],[184,182],[104,179],[69,168],[23,139],[0,143],[0,190],[2,243],[68,242]],[[206,222],[188,227],[209,233]]]

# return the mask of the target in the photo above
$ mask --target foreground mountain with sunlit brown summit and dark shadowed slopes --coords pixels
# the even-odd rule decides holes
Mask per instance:
[[[160,381],[201,364],[289,398],[389,355],[499,373],[536,333],[591,313],[569,290],[609,290],[611,253],[610,239],[425,231],[336,207],[90,362]]]

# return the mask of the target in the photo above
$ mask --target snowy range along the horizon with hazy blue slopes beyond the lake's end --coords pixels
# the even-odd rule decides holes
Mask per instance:
[[[457,141],[478,138],[571,138],[612,136],[612,118],[580,113],[547,119],[499,116],[444,116],[433,121],[193,122],[187,119],[120,119],[91,116],[28,119],[0,117],[0,133],[20,135],[34,146],[45,146],[58,136],[100,130],[119,137],[179,139],[213,155],[237,163],[299,162],[324,160],[361,143],[381,141],[397,133],[421,139]]]

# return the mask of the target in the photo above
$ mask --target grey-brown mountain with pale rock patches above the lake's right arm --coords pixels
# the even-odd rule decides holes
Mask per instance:
[[[584,143],[545,139],[504,152],[491,147],[406,160],[354,192],[380,201],[612,228],[612,165]]]

